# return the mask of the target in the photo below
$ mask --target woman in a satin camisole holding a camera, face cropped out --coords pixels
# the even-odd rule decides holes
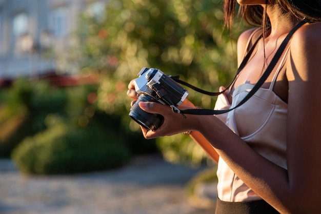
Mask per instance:
[[[225,114],[186,114],[184,119],[169,107],[141,102],[142,109],[165,118],[155,131],[142,127],[144,137],[188,131],[218,162],[215,213],[321,213],[321,1],[237,3],[246,22],[263,27],[239,36],[238,64],[252,51],[233,85],[218,96],[216,109],[239,103],[289,32],[300,21],[307,23],[294,32],[268,79],[244,105]],[[234,0],[225,1],[228,27],[234,8]],[[137,99],[132,82],[128,95]],[[186,100],[179,108],[194,107]]]

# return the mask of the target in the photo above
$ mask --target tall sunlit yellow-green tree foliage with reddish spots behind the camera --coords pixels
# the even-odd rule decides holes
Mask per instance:
[[[235,26],[232,35],[223,29],[223,0],[110,0],[99,18],[82,15],[68,61],[81,72],[102,74],[98,107],[120,115],[123,126],[140,132],[128,116],[129,81],[142,67],[153,67],[218,91],[232,80],[237,66],[233,35],[244,26]],[[216,98],[189,92],[195,105],[213,108]],[[180,135],[156,141],[169,161],[199,163],[205,157]]]

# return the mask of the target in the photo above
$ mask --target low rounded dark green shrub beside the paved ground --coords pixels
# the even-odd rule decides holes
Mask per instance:
[[[26,174],[63,174],[119,167],[128,162],[130,152],[112,132],[97,126],[55,125],[25,139],[12,159]]]

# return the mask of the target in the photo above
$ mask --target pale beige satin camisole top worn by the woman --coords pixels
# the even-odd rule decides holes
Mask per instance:
[[[288,107],[287,103],[273,92],[273,86],[284,65],[288,51],[289,47],[283,55],[268,89],[260,88],[242,106],[228,113],[216,115],[257,153],[285,169],[287,169],[286,123]],[[214,109],[233,108],[243,100],[253,86],[247,83],[238,86],[232,94],[232,105],[225,94],[220,94]],[[236,176],[222,158],[219,158],[218,161],[217,177],[217,192],[220,200],[240,202],[261,199]]]

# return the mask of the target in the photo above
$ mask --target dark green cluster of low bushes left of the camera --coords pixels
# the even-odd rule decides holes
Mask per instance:
[[[110,169],[157,152],[141,134],[126,134],[118,115],[97,108],[97,90],[14,81],[0,91],[0,156],[11,155],[24,173],[56,174]]]

